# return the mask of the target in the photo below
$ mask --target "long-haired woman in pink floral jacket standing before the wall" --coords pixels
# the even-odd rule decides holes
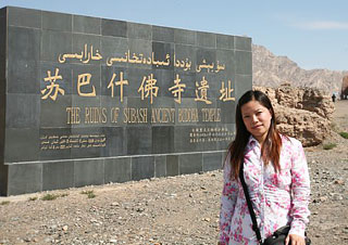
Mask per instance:
[[[219,244],[259,244],[238,178],[244,164],[262,238],[289,224],[286,244],[304,245],[310,180],[302,144],[276,130],[271,101],[260,91],[240,98],[236,131],[224,165]]]

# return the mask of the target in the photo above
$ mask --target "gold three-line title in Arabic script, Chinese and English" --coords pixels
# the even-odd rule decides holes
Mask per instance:
[[[203,73],[202,76],[197,76],[195,80],[185,80],[185,76],[178,73],[174,73],[172,80],[162,81],[161,77],[157,77],[156,73],[150,69],[144,69],[142,78],[139,80],[129,79],[128,73],[114,72],[107,81],[94,80],[91,73],[78,74],[76,80],[66,81],[64,76],[60,74],[59,68],[52,68],[47,70],[47,76],[44,78],[41,86],[41,100],[57,101],[60,96],[64,96],[66,88],[72,85],[76,88],[78,96],[83,98],[97,98],[98,95],[108,95],[115,98],[121,105],[113,107],[80,107],[70,106],[65,108],[66,124],[79,125],[79,124],[192,124],[192,122],[219,122],[221,121],[221,108],[216,108],[213,104],[213,100],[219,100],[224,103],[234,102],[234,88],[232,79],[214,80],[214,76],[209,74],[217,74],[225,70],[225,64],[208,63],[206,59],[200,64],[192,67],[190,59],[177,59],[175,53],[173,57],[170,54],[164,55],[164,60],[156,59],[156,54],[152,52],[150,55],[142,53],[133,53],[127,50],[123,56],[103,57],[98,49],[92,46],[85,44],[80,52],[76,53],[63,53],[59,54],[58,61],[64,64],[71,60],[78,61],[83,64],[88,64],[91,61],[105,61],[107,67],[112,66],[115,63],[132,64],[145,64],[152,67],[167,67],[172,65],[177,69],[184,72],[191,72],[195,74]],[[175,70],[177,70],[175,69]],[[100,82],[100,81],[99,81]],[[98,86],[97,86],[98,85]],[[129,86],[132,85],[132,87]],[[161,85],[161,86],[160,86]],[[164,85],[164,86],[163,86]],[[167,85],[167,86],[165,86]],[[105,87],[108,93],[101,94],[99,91],[101,87]],[[165,94],[163,91],[172,96],[172,100],[182,105],[183,96],[189,94],[192,101],[201,103],[202,105],[212,105],[209,107],[186,107],[185,103],[183,107],[127,107],[127,103],[124,102],[125,94],[129,94],[130,89],[136,89],[140,101],[149,101],[152,105],[160,94]],[[130,92],[132,93],[132,92]],[[216,94],[217,93],[217,94]],[[125,103],[125,106],[123,106]]]

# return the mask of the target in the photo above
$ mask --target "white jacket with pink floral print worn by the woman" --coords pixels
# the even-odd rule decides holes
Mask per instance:
[[[263,165],[259,142],[250,137],[246,147],[244,176],[262,238],[290,224],[290,234],[304,236],[310,215],[310,179],[302,144],[282,136],[281,171]],[[239,180],[229,178],[229,157],[224,167],[221,197],[220,244],[257,245],[252,221]]]

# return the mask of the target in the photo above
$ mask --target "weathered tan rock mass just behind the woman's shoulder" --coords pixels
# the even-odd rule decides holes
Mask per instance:
[[[303,146],[323,142],[332,133],[334,103],[328,94],[312,88],[254,87],[269,95],[276,114],[281,132],[299,139]]]

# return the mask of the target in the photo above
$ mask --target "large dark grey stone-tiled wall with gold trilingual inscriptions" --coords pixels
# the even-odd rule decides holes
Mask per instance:
[[[251,39],[0,10],[1,195],[221,167]]]

